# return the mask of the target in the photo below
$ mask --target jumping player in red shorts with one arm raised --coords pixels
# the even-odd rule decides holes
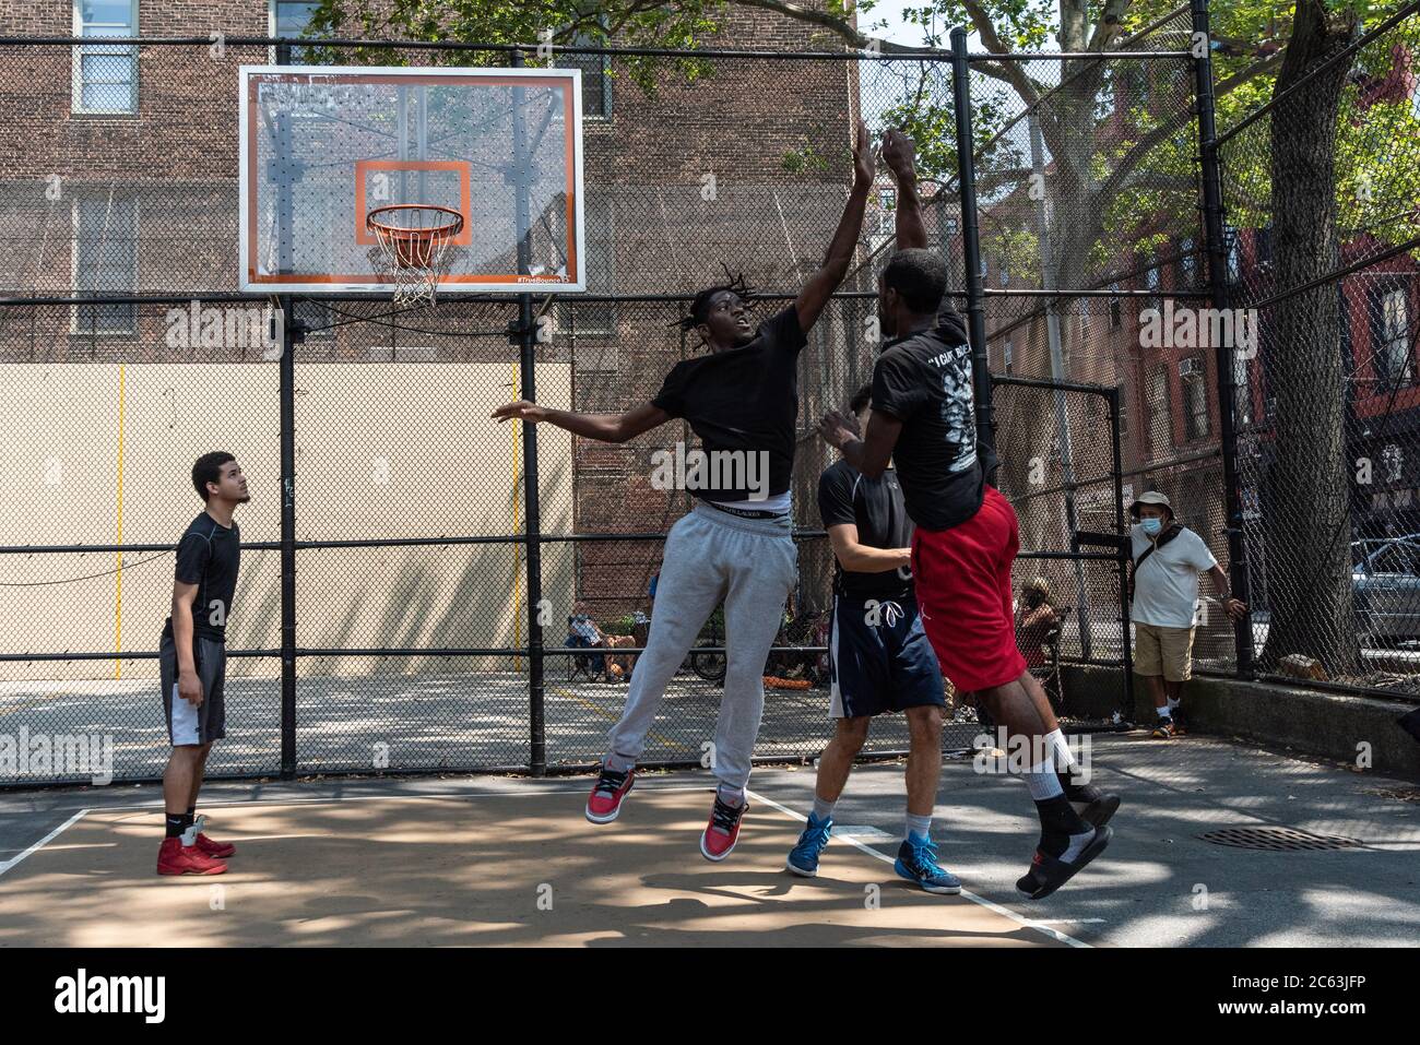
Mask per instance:
[[[1022,775],[1041,816],[1041,839],[1017,887],[1049,896],[1109,845],[1119,799],[1081,781],[1059,723],[1015,646],[1011,565],[1020,549],[1015,511],[987,477],[991,434],[978,430],[971,346],[943,301],[947,267],[926,250],[912,141],[890,131],[883,160],[897,179],[897,250],[878,281],[886,341],[873,366],[868,432],[834,412],[821,433],[870,478],[897,467],[916,524],[912,572],[927,638],[943,673],[974,691],[1012,738],[1030,740]],[[978,454],[980,447],[980,454]],[[1020,743],[1020,741],[1015,741]]]

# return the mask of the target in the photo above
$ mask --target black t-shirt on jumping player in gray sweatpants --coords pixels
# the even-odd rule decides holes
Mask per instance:
[[[652,399],[672,417],[684,417],[701,449],[768,454],[768,487],[753,476],[758,459],[738,471],[736,486],[692,490],[710,501],[774,497],[790,488],[794,471],[794,429],[798,422],[798,354],[808,344],[791,304],[770,317],[754,339],[727,352],[683,359],[666,375]],[[721,473],[724,474],[724,473]]]

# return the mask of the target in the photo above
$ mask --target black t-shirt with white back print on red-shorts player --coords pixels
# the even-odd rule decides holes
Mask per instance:
[[[997,460],[990,432],[977,425],[967,331],[950,305],[936,327],[883,348],[873,412],[902,422],[893,463],[912,521],[950,530],[976,515]]]

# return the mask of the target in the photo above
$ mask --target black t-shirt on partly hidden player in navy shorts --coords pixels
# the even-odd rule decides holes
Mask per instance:
[[[869,548],[907,548],[912,545],[912,520],[902,503],[897,473],[888,469],[878,478],[868,478],[848,461],[838,461],[818,477],[818,514],[824,528],[852,524],[858,542]],[[912,598],[912,571],[907,567],[882,574],[859,574],[834,559],[834,592],[855,599]]]

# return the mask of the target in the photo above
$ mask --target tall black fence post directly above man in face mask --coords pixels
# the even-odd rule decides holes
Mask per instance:
[[[1208,292],[1214,308],[1228,307],[1227,247],[1223,224],[1223,168],[1218,160],[1218,131],[1213,97],[1213,55],[1208,26],[1208,0],[1191,0],[1193,41],[1203,54],[1194,58],[1193,70],[1198,99],[1198,163],[1203,172],[1203,234],[1208,250]],[[1247,545],[1242,534],[1242,494],[1238,486],[1237,469],[1237,389],[1233,379],[1231,339],[1213,346],[1214,363],[1218,371],[1218,427],[1223,450],[1223,497],[1227,513],[1228,576],[1233,595],[1248,601]],[[1252,619],[1233,622],[1233,639],[1237,647],[1237,673],[1250,679],[1254,673]]]

